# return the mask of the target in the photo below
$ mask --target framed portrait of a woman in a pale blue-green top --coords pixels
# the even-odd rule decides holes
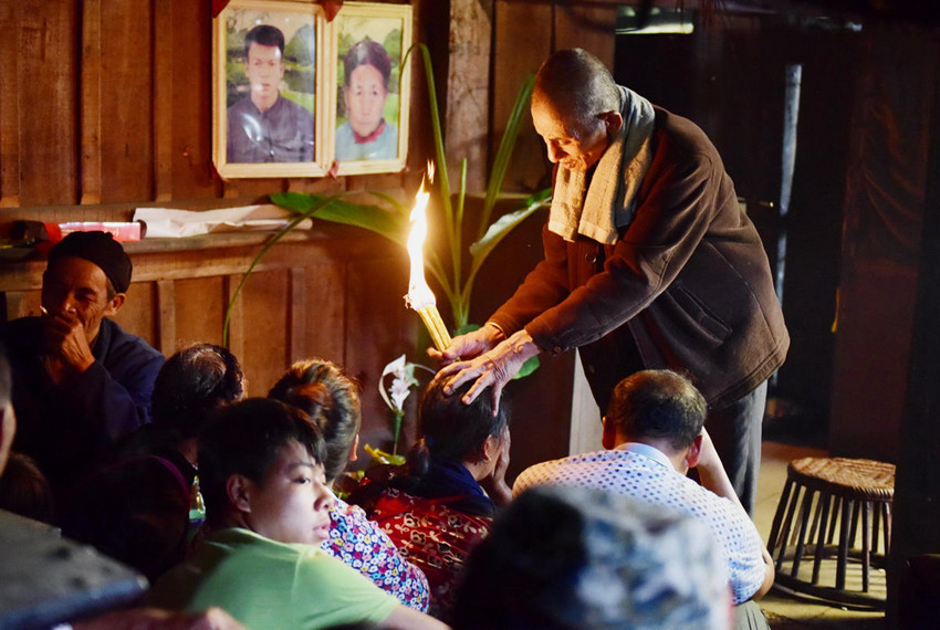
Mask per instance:
[[[338,175],[397,172],[408,151],[411,6],[346,2],[333,29],[335,118],[331,148]]]

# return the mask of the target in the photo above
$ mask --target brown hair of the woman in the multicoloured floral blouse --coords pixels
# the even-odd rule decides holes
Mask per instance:
[[[310,359],[292,365],[268,398],[299,407],[314,419],[326,442],[326,481],[340,476],[362,424],[358,384],[336,364]]]

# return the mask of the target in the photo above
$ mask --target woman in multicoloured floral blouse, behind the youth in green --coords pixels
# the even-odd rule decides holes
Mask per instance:
[[[356,459],[362,423],[357,385],[337,365],[311,359],[291,366],[268,397],[299,407],[318,422],[326,441],[323,468],[332,491],[346,462]],[[334,495],[330,521],[330,538],[321,545],[324,552],[357,569],[405,606],[421,612],[428,609],[425,574],[401,557],[362,508]]]

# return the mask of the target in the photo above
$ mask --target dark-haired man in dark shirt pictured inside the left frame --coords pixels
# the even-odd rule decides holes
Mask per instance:
[[[259,24],[244,36],[244,73],[251,93],[229,107],[228,161],[310,161],[313,114],[281,95],[284,33]]]

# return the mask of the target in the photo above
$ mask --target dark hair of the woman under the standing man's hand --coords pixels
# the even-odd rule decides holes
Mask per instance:
[[[490,435],[499,438],[509,424],[509,403],[505,392],[493,416],[493,399],[484,391],[470,405],[463,403],[463,395],[472,381],[462,385],[446,396],[447,379],[435,378],[425,391],[418,412],[418,434],[421,439],[408,454],[412,476],[421,476],[428,469],[430,458],[441,461],[473,460],[482,453]]]

